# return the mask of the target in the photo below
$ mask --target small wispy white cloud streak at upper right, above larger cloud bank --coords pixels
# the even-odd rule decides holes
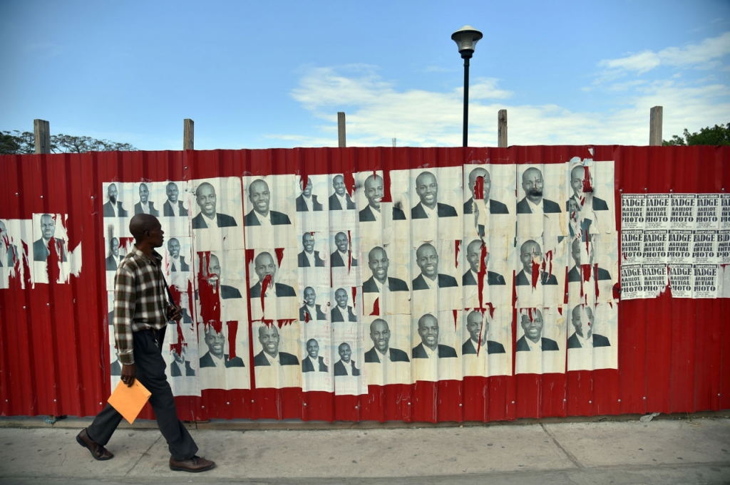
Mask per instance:
[[[618,59],[604,59],[599,67],[607,69],[607,74],[635,72],[644,74],[658,66],[677,68],[694,67],[708,69],[717,65],[717,61],[730,54],[730,32],[704,39],[699,44],[688,44],[684,47],[666,47],[655,53],[645,50],[641,53],[627,55]]]

